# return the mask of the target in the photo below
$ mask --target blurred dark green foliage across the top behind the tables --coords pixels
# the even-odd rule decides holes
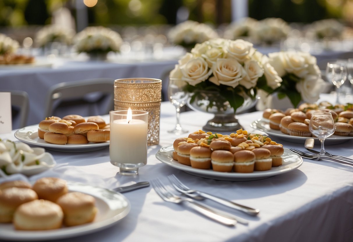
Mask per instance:
[[[0,26],[43,25],[53,11],[67,7],[76,15],[76,0],[1,0]],[[83,0],[77,0],[83,1]],[[189,19],[214,25],[231,22],[231,0],[98,0],[88,10],[90,25],[175,24],[184,6]],[[323,18],[352,21],[352,0],[249,0],[249,16],[278,17],[310,23]]]

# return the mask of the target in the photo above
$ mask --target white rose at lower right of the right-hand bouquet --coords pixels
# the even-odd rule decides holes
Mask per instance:
[[[295,87],[304,102],[315,103],[319,99],[324,84],[325,81],[317,75],[307,75]]]

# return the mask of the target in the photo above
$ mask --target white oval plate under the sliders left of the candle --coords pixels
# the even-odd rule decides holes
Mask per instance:
[[[36,146],[44,147],[48,150],[65,151],[65,152],[94,151],[94,150],[100,150],[106,146],[109,146],[109,141],[103,142],[103,143],[90,142],[88,144],[82,144],[82,145],[50,144],[38,137],[38,125],[31,125],[31,126],[27,126],[19,129],[18,131],[15,132],[15,137],[16,139],[29,145],[36,145]]]

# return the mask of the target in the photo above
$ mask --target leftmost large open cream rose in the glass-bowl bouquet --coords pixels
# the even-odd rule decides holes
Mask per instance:
[[[192,86],[205,81],[212,74],[212,69],[208,68],[207,62],[201,57],[180,66],[180,71],[183,74],[182,79]]]

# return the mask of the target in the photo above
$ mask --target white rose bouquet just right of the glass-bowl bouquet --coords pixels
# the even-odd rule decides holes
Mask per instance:
[[[301,101],[314,103],[319,99],[325,82],[314,56],[305,52],[275,52],[269,53],[268,62],[282,81],[276,89],[263,92],[262,98],[277,93],[280,99],[287,96],[293,107],[297,107]]]

